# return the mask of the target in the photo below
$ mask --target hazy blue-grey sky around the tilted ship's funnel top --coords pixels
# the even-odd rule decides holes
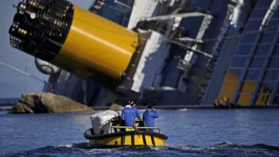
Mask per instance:
[[[34,57],[11,47],[9,28],[13,22],[16,9],[12,7],[22,0],[0,0],[0,62],[9,64],[19,70],[39,78],[48,80],[48,75],[39,72]],[[88,9],[94,0],[68,0],[75,5]],[[0,64],[0,98],[20,97],[23,92],[38,92],[44,86],[42,81],[28,77]]]

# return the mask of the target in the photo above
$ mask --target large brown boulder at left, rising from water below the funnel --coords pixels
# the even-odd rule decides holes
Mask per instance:
[[[9,113],[95,112],[90,107],[53,93],[22,93]]]

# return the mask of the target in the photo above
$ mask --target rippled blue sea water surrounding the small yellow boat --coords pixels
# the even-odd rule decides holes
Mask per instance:
[[[279,156],[279,109],[158,111],[166,146],[115,149],[87,149],[89,113],[1,111],[0,156]]]

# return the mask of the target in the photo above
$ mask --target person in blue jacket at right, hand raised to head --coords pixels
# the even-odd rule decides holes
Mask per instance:
[[[143,113],[143,121],[146,127],[154,127],[154,119],[159,118],[159,113],[153,108],[153,105],[148,105],[148,109]],[[153,131],[153,129],[149,129]]]

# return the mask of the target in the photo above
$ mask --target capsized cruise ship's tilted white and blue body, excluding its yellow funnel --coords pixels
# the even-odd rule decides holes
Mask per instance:
[[[279,105],[278,0],[96,0],[89,11],[146,39],[126,84],[110,89],[36,59],[44,90],[89,106]],[[92,50],[93,51],[93,50]]]

